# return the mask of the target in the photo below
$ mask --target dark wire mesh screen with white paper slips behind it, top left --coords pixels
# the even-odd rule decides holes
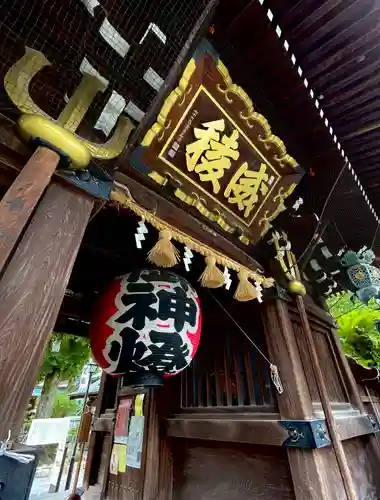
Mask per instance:
[[[8,82],[7,92],[2,85],[0,113],[17,115],[19,106],[9,99],[9,90],[28,106],[27,90],[33,103],[57,119],[83,75],[90,74],[99,80],[100,90],[77,133],[104,139],[122,114],[141,121],[207,4],[207,0],[1,0],[2,82],[26,47],[43,56],[29,61],[30,82],[24,70]]]

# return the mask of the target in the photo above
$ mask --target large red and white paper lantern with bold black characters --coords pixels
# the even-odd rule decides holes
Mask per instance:
[[[175,375],[194,358],[201,325],[199,298],[188,281],[169,271],[133,271],[101,296],[90,327],[91,349],[112,375]]]

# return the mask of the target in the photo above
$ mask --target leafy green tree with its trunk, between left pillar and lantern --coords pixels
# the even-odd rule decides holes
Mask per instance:
[[[55,343],[60,343],[58,352],[52,349]],[[39,377],[44,381],[44,385],[36,418],[52,416],[54,396],[59,383],[63,380],[74,380],[89,359],[87,339],[67,334],[52,334]]]

